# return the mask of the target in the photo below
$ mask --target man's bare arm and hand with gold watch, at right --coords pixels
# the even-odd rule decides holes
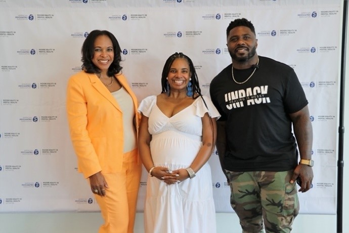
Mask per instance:
[[[313,146],[313,128],[309,117],[308,106],[305,106],[301,110],[289,115],[293,124],[293,132],[297,140],[300,159],[311,160]],[[308,191],[311,188],[314,177],[312,167],[304,164],[298,164],[294,169],[294,173],[290,182],[293,183],[298,176],[302,181],[301,187],[298,191]]]

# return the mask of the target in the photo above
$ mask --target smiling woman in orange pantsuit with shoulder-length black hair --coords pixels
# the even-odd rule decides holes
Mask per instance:
[[[67,114],[78,170],[101,208],[99,233],[133,232],[141,177],[137,99],[122,75],[115,36],[94,30],[82,49],[82,71],[67,87]]]

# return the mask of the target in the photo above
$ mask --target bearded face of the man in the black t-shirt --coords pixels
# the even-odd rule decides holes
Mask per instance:
[[[230,30],[227,46],[234,61],[246,62],[256,55],[257,40],[249,27],[237,26]]]

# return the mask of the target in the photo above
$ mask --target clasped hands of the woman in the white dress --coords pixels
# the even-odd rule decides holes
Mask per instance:
[[[171,171],[166,167],[155,167],[151,174],[166,184],[179,183],[189,178],[189,174],[184,168]]]

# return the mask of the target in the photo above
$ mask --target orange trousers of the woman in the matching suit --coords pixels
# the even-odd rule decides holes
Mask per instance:
[[[106,196],[95,195],[104,224],[99,233],[133,233],[142,165],[137,164],[137,149],[123,154],[122,170],[102,174],[109,188]]]

